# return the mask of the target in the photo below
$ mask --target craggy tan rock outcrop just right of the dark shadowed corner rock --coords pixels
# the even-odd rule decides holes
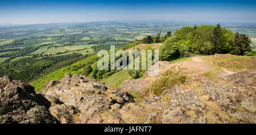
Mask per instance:
[[[125,91],[106,90],[108,87],[93,78],[67,73],[60,81],[47,82],[42,94],[62,103],[52,103],[49,108],[60,123],[101,123],[101,113],[133,101]]]

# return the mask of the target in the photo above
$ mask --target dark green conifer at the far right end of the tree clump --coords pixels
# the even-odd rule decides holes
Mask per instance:
[[[249,39],[248,36],[237,32],[235,35],[235,44],[233,48],[233,54],[243,55],[246,51],[250,52],[251,51],[250,43],[251,43],[251,40]]]

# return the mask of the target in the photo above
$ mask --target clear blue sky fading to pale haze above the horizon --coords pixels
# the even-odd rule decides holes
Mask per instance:
[[[123,20],[256,23],[256,1],[0,1],[0,23],[118,22]]]

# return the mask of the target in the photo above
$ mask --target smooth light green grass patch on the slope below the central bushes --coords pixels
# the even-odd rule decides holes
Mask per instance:
[[[128,70],[120,70],[117,73],[110,75],[110,77],[102,79],[101,82],[112,87],[119,87],[127,79],[133,79],[133,77],[129,75]]]

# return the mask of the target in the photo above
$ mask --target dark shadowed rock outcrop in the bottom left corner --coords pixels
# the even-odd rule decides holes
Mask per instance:
[[[0,78],[0,123],[58,123],[43,100],[27,83]]]

